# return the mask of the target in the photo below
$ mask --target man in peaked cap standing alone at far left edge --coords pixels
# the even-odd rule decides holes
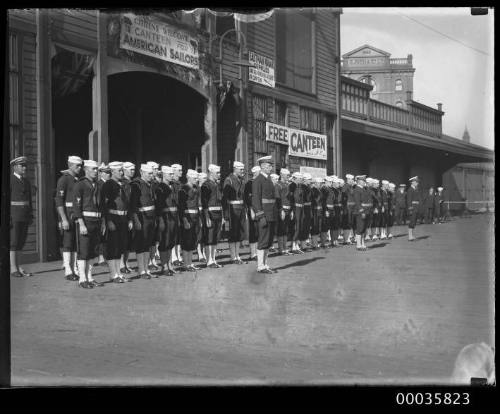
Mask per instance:
[[[33,223],[31,184],[26,178],[28,159],[14,158],[10,165],[10,275],[13,277],[33,276],[18,265],[19,252],[28,236],[28,227]]]

